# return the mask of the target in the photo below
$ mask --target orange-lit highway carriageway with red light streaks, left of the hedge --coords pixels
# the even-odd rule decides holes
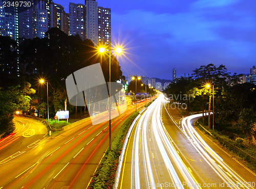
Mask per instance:
[[[134,111],[135,105],[129,105],[112,120],[112,137]],[[109,146],[109,122],[92,125],[87,118],[74,124],[1,164],[0,188],[86,188]]]

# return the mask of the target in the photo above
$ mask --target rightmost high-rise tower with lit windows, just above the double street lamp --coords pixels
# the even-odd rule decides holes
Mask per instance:
[[[111,44],[111,9],[98,7],[98,41]]]

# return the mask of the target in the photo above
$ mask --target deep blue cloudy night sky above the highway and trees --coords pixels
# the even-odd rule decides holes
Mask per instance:
[[[70,1],[53,1],[69,12]],[[126,44],[130,60],[118,58],[125,76],[172,79],[173,68],[177,76],[187,76],[209,63],[249,73],[256,65],[255,0],[97,2],[111,8],[112,43]]]

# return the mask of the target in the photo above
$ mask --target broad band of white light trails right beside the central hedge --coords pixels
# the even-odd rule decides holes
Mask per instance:
[[[163,103],[164,97],[160,95],[138,121],[133,143],[131,188],[157,188],[157,183],[164,183],[164,180],[172,182],[175,188],[200,188],[167,136],[161,119]],[[160,153],[154,153],[153,149]],[[159,162],[163,164],[157,166]],[[163,172],[165,174],[160,174]]]

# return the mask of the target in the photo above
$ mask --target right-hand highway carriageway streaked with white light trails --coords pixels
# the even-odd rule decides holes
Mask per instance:
[[[206,144],[189,126],[190,120],[184,119],[180,126],[179,113],[167,110],[165,102],[160,95],[137,121],[124,153],[119,188],[250,188],[254,184],[255,175],[241,165],[242,176],[232,169],[227,162],[234,159],[227,160],[226,153],[224,158],[211,141]]]

